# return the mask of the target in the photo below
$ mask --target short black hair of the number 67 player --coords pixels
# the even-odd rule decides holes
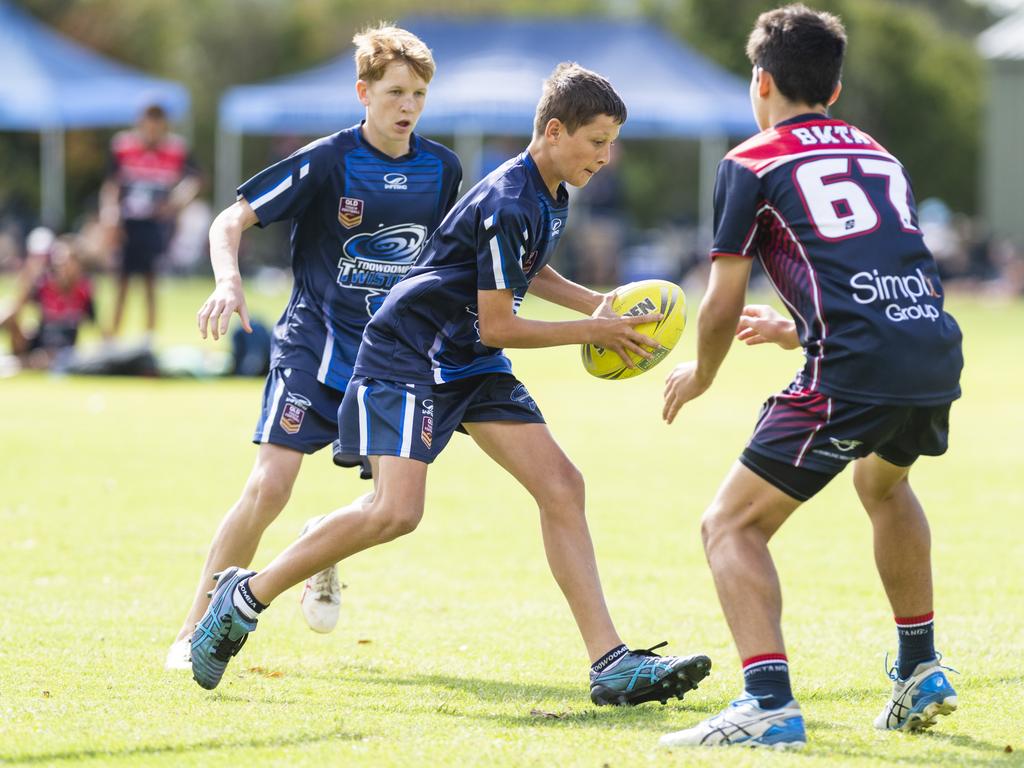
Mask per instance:
[[[839,16],[794,3],[758,16],[746,41],[751,63],[791,101],[825,104],[839,85],[846,30]]]

